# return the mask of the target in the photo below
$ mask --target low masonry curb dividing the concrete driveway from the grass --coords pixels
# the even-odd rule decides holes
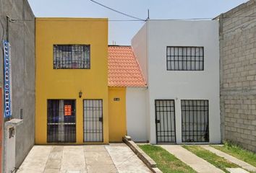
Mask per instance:
[[[156,167],[156,163],[155,161],[153,161],[153,159],[150,158],[150,156],[148,156],[148,154],[145,154],[144,151],[142,151],[142,149],[140,149],[139,146],[137,146],[137,144],[132,141],[132,138],[129,136],[124,136],[123,137],[123,141],[124,143],[127,144],[127,146],[129,146],[129,148],[132,149],[132,151],[144,162],[144,164],[154,173],[162,173],[160,169],[158,169]]]

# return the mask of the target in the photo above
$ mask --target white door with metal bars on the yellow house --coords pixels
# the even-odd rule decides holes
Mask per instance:
[[[84,99],[84,142],[103,142],[102,99]]]

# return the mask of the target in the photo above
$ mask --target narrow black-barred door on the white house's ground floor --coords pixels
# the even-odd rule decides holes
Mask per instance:
[[[157,143],[176,143],[174,99],[155,100]]]

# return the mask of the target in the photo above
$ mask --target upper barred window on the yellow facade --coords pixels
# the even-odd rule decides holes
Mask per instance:
[[[54,45],[54,69],[90,69],[90,45]]]

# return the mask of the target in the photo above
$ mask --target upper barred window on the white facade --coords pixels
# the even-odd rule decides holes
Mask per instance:
[[[166,50],[168,71],[203,71],[203,47],[173,47]]]

